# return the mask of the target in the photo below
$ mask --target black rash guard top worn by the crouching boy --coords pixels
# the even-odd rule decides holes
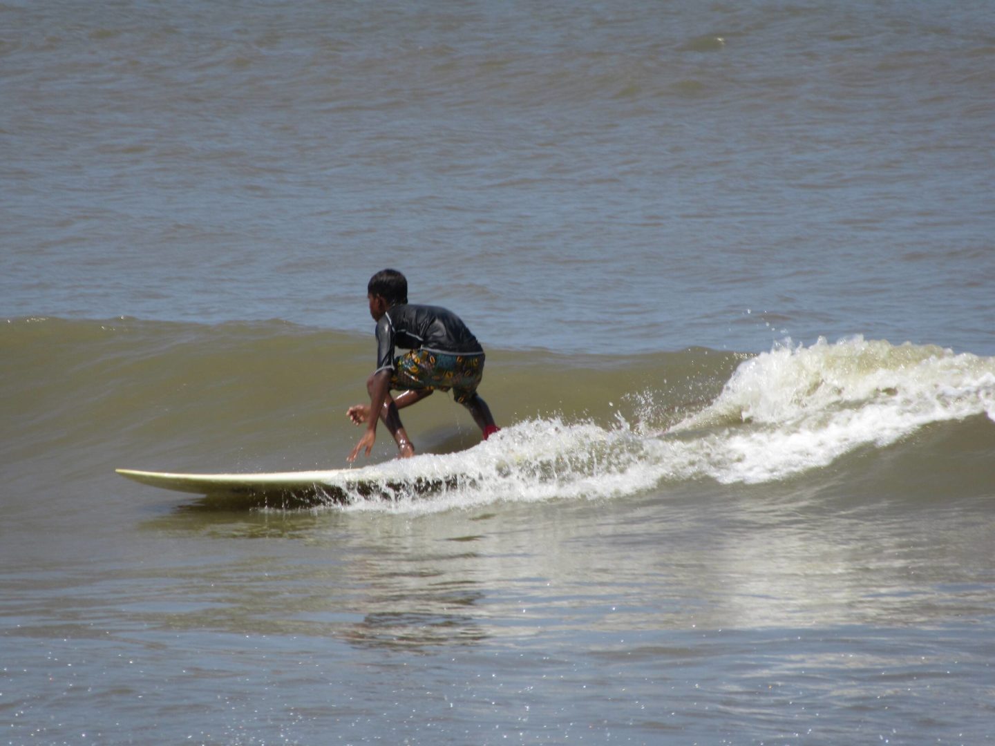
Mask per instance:
[[[394,347],[453,355],[480,355],[484,348],[463,320],[438,305],[399,303],[376,324],[376,371],[394,367]]]

